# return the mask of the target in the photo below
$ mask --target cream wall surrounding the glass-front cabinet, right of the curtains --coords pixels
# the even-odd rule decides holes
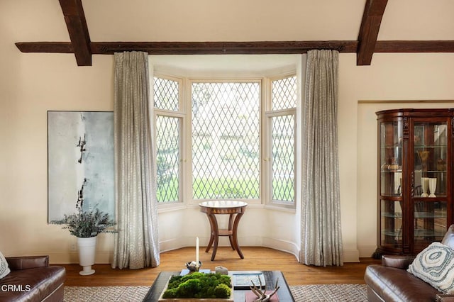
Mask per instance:
[[[360,257],[370,257],[377,247],[375,111],[409,107],[453,108],[454,54],[375,54],[372,65],[362,67],[355,66],[354,54],[345,54],[340,56],[339,65],[339,157],[344,250],[356,248]],[[396,104],[366,106],[358,105],[360,100],[445,102],[413,105],[397,101]],[[355,223],[352,223],[355,218]]]

